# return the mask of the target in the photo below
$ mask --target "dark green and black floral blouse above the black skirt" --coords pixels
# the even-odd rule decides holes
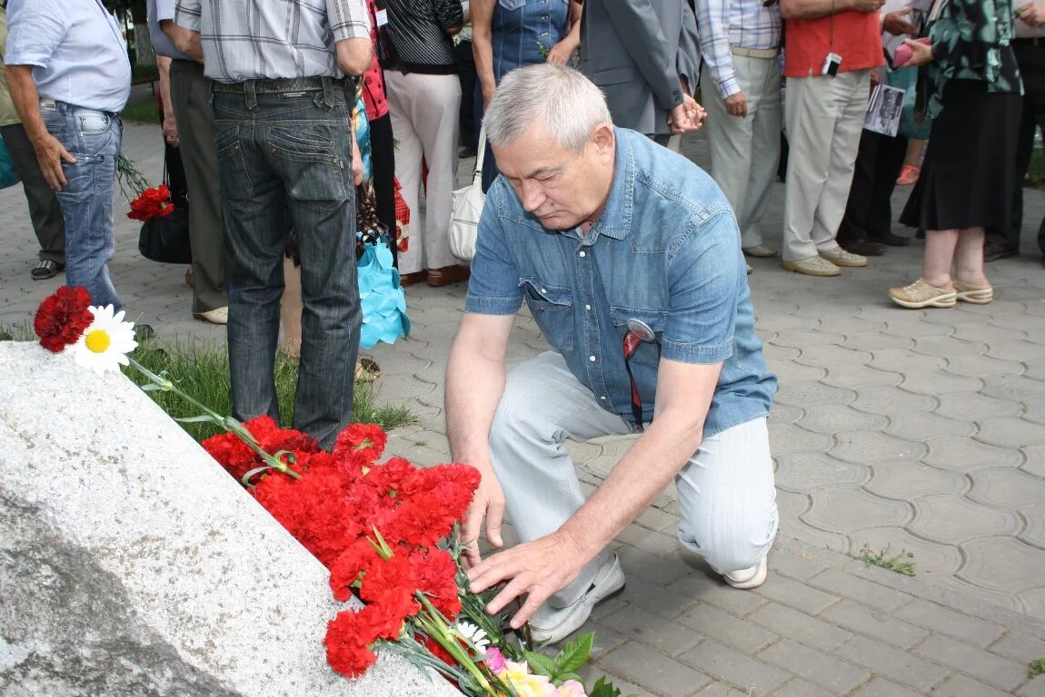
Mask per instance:
[[[1012,0],[944,0],[929,30],[936,59],[929,64],[928,115],[943,110],[950,79],[983,80],[988,92],[1022,94],[1013,37]]]

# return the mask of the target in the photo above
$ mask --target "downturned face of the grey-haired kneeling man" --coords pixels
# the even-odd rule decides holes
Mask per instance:
[[[538,121],[493,153],[522,208],[549,230],[572,230],[602,213],[613,182],[614,147],[608,123],[596,126],[578,154],[557,144]]]

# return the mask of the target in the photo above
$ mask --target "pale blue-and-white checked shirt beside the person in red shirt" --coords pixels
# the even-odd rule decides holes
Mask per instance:
[[[781,45],[780,4],[762,0],[696,0],[700,54],[722,97],[740,92],[730,46],[774,49]]]

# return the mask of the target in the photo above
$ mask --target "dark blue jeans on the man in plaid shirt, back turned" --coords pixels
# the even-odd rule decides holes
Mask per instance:
[[[214,149],[229,275],[232,410],[279,417],[273,369],[283,293],[284,211],[301,253],[301,362],[294,428],[324,448],[352,418],[359,346],[349,107],[329,79],[214,85]]]

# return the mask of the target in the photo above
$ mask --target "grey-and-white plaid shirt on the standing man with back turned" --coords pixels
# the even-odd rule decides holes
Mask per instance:
[[[370,40],[366,0],[178,0],[175,23],[200,32],[218,82],[342,77],[334,43]]]

